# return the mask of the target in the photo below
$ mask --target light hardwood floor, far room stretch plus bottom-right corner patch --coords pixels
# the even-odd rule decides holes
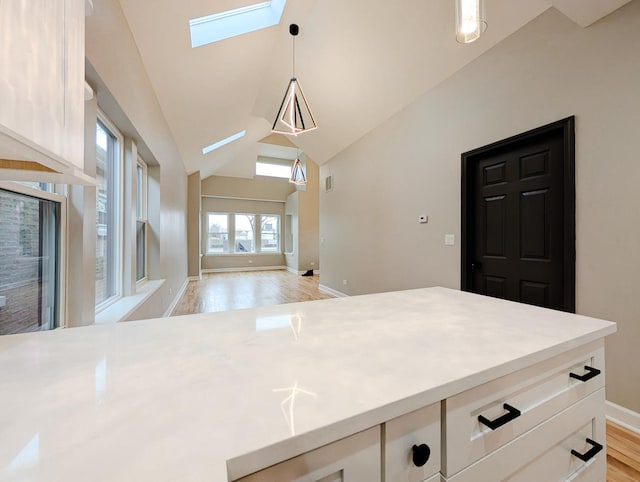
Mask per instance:
[[[319,277],[285,270],[205,274],[190,281],[172,316],[331,298]],[[640,482],[640,435],[607,421],[607,482]]]

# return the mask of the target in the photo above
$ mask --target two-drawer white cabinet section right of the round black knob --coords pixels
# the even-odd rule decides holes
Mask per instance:
[[[602,340],[462,392],[444,407],[446,481],[605,479]]]

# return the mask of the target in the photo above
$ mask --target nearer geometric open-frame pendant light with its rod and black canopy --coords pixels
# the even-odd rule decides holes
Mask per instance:
[[[300,82],[298,82],[296,78],[295,38],[299,31],[300,29],[295,23],[289,25],[289,33],[293,38],[293,75],[287,85],[282,104],[280,104],[278,115],[276,115],[271,129],[271,132],[278,134],[297,136],[298,134],[314,130],[318,127],[307,103],[307,99],[304,97]]]

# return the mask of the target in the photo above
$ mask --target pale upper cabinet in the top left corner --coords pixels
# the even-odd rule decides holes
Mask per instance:
[[[0,179],[30,171],[90,182],[82,173],[84,14],[84,0],[0,2]]]

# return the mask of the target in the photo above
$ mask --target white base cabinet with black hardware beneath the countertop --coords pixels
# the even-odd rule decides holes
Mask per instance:
[[[603,482],[604,385],[601,339],[239,482]]]

